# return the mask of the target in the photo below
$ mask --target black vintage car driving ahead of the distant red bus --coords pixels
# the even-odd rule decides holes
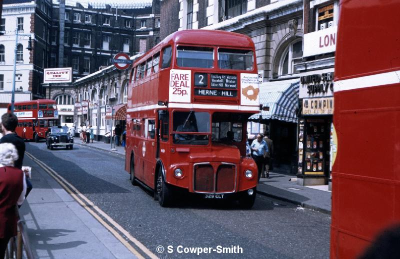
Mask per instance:
[[[73,136],[69,134],[68,127],[49,127],[46,133],[46,146],[53,149],[54,146],[65,146],[66,149],[73,148]]]

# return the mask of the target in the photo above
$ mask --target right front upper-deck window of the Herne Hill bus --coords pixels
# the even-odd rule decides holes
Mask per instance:
[[[253,51],[248,49],[218,48],[218,66],[221,69],[252,70]]]

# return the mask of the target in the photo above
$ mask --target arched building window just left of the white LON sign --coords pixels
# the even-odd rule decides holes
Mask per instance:
[[[283,52],[279,64],[279,75],[296,73],[294,64],[301,62],[302,56],[302,41],[290,43]]]

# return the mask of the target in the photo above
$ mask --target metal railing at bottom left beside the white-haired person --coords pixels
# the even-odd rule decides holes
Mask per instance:
[[[25,229],[25,221],[19,218],[18,206],[15,206],[17,233],[16,236],[12,236],[5,249],[5,259],[22,259],[22,246],[25,248],[26,257],[28,259],[34,259],[32,249],[30,248],[28,234]],[[15,257],[14,257],[15,256]]]

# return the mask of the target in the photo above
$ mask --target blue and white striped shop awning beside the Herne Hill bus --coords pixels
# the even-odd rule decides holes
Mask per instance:
[[[299,79],[284,81],[263,82],[260,84],[259,103],[268,106],[269,110],[262,110],[262,119],[277,119],[297,123],[295,109],[298,106]],[[257,120],[259,113],[249,117]]]

